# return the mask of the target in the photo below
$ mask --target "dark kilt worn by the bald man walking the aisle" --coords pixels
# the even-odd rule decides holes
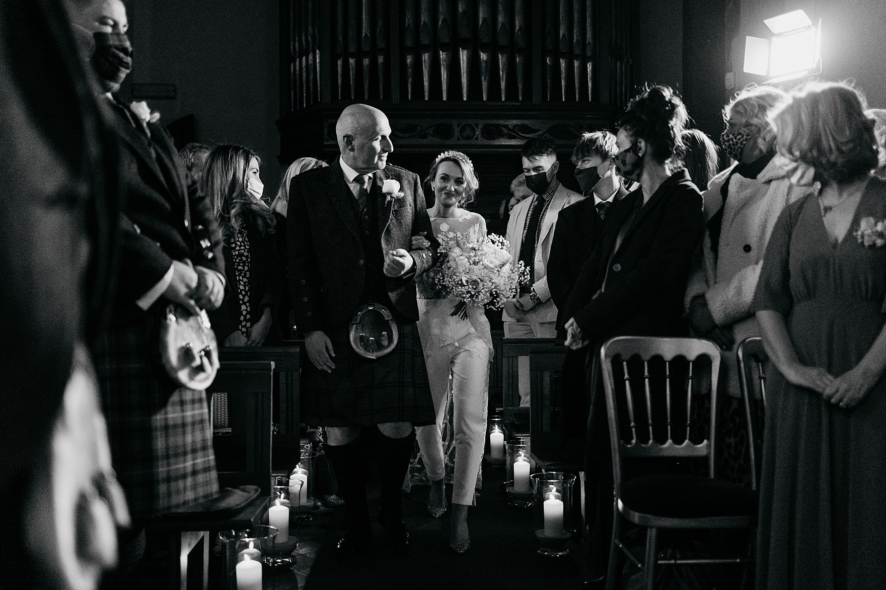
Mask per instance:
[[[332,343],[335,369],[302,364],[302,415],[322,426],[366,426],[409,422],[426,426],[436,421],[416,322],[397,319],[397,346],[380,359],[354,352],[347,325],[324,330]]]

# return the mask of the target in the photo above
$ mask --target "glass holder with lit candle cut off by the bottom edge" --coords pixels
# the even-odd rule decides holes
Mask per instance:
[[[243,531],[219,533],[222,550],[222,587],[225,590],[262,590],[268,559],[274,554],[277,530],[256,524]],[[272,579],[269,575],[268,578]]]

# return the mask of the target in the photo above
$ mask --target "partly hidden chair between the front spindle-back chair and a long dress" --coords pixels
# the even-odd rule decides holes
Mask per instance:
[[[738,381],[744,400],[744,418],[748,423],[750,484],[756,490],[763,455],[763,431],[766,425],[766,361],[763,338],[745,338],[738,345]]]

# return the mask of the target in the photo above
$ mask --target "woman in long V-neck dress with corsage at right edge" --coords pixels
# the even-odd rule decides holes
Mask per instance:
[[[754,300],[774,365],[758,590],[886,587],[886,183],[863,111],[818,82],[770,117],[792,182],[820,191],[781,213]]]

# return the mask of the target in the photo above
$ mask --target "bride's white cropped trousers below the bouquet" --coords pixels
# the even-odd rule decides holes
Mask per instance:
[[[473,505],[477,473],[486,444],[486,404],[489,399],[489,347],[475,333],[424,354],[437,423],[416,428],[418,448],[432,481],[446,475],[442,426],[447,413],[449,374],[452,373],[455,433],[454,504]]]

